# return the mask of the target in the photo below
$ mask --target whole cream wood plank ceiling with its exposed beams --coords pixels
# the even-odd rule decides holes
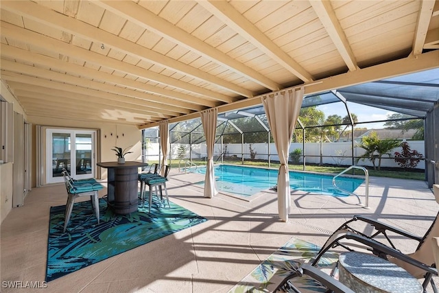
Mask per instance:
[[[439,1],[2,0],[0,17],[1,80],[31,123],[145,128],[394,60],[439,67]]]

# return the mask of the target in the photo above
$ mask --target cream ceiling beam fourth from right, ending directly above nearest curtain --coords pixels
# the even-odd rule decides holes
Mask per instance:
[[[276,89],[281,88],[279,84],[273,82],[261,73],[243,65],[241,62],[224,54],[222,51],[211,47],[199,38],[180,29],[180,27],[169,23],[169,21],[156,16],[156,14],[141,7],[141,5],[137,3],[132,1],[96,1],[95,4],[123,17],[124,19],[128,19],[128,21],[136,23],[140,27],[152,31],[159,36],[163,36],[178,45],[182,45],[191,51],[195,51],[201,56],[204,56],[235,73],[244,75],[249,80],[261,84],[261,86],[265,86],[267,89],[276,91]]]

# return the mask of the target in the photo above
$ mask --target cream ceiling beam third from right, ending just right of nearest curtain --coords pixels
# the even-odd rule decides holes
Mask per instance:
[[[221,20],[225,25],[237,32],[240,36],[246,38],[250,43],[256,46],[282,65],[289,72],[296,75],[303,82],[312,82],[311,74],[301,67],[291,56],[285,53],[281,48],[273,43],[270,38],[265,36],[255,25],[250,23],[244,16],[242,16],[232,5],[227,1],[206,1],[198,0],[198,4],[202,5],[204,9],[211,12],[215,17]],[[278,89],[281,89],[278,87]],[[271,89],[276,91],[276,89]]]

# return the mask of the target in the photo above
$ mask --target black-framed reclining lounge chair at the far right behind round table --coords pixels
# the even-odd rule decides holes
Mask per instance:
[[[439,203],[439,185],[434,185],[434,196],[436,202]],[[374,255],[383,259],[388,259],[392,263],[401,266],[401,268],[407,270],[407,272],[417,279],[424,278],[424,290],[427,288],[428,283],[431,283],[431,287],[436,293],[438,290],[432,277],[438,275],[438,270],[436,270],[436,259],[434,258],[431,244],[434,237],[439,237],[438,217],[439,213],[436,215],[436,218],[431,223],[431,226],[425,235],[418,236],[383,222],[379,222],[375,219],[363,215],[355,215],[353,219],[342,224],[342,226],[337,228],[337,230],[329,237],[311,265],[316,266],[320,257],[331,248],[342,247],[346,250],[353,251],[366,246],[366,248],[371,250]],[[367,226],[371,226],[374,228],[374,232],[371,235],[362,233],[358,228],[353,227],[352,224],[355,222],[362,222]],[[391,235],[388,233],[396,234],[399,238],[405,237],[405,239],[416,240],[418,246],[414,250],[414,253],[401,253],[392,242]],[[379,235],[383,235],[383,240],[386,240],[384,243],[377,237]]]

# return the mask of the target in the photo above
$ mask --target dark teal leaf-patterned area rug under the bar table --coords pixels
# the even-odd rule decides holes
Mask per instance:
[[[100,199],[100,224],[91,209],[91,202],[75,203],[69,226],[64,226],[65,205],[50,208],[47,245],[46,281],[91,266],[108,257],[119,255],[161,237],[206,222],[178,204],[165,207],[154,198],[151,213],[148,202],[139,204],[139,211],[116,215]]]

